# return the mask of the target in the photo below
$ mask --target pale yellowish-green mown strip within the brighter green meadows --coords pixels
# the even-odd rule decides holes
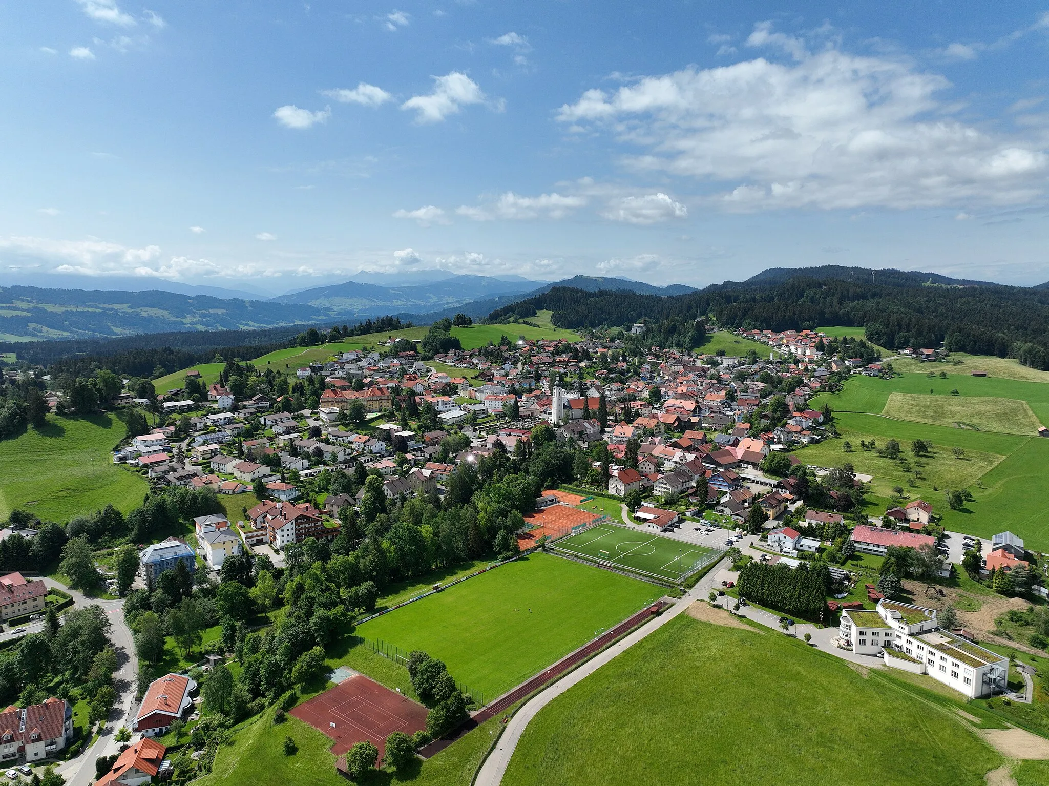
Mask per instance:
[[[890,394],[881,413],[895,420],[1033,436],[1039,423],[1026,401],[990,397]]]

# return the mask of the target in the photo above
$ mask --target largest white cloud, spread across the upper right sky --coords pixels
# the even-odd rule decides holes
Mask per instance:
[[[590,89],[558,118],[611,131],[631,147],[623,163],[636,170],[711,184],[714,204],[732,210],[1011,204],[1042,193],[1046,153],[938,114],[942,76],[833,46],[810,52],[768,24],[747,43],[789,61]]]

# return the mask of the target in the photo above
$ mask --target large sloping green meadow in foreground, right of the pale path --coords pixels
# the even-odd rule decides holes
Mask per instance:
[[[982,785],[1002,758],[956,708],[795,638],[681,615],[540,710],[502,783]]]

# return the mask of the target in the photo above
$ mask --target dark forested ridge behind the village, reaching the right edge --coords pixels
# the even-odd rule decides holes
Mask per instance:
[[[839,270],[849,271],[852,280],[835,275]],[[559,327],[644,320],[678,336],[690,335],[683,325],[694,320],[772,331],[856,325],[865,328],[871,341],[890,348],[946,341],[956,352],[1015,357],[1036,368],[1049,367],[1049,291],[961,282],[928,273],[874,273],[872,283],[870,270],[814,268],[785,280],[770,275],[766,282],[755,276],[671,297],[554,288],[492,312],[489,321],[550,310]]]

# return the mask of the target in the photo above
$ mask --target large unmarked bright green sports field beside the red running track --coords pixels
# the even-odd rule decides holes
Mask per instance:
[[[425,650],[489,701],[612,628],[662,592],[549,554],[532,554],[357,629]]]

